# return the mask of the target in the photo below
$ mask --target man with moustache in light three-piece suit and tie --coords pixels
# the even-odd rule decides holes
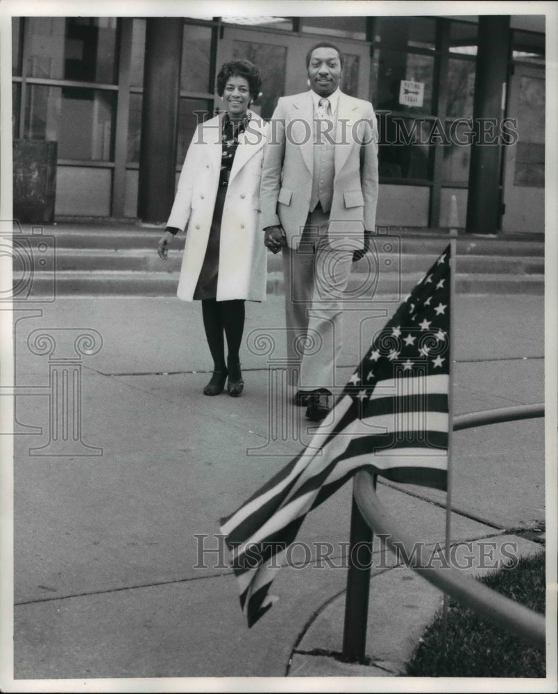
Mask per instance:
[[[279,99],[260,187],[264,244],[283,253],[287,357],[300,363],[295,403],[312,421],[332,407],[343,294],[378,198],[374,110],[341,92],[343,64],[331,42],[308,51],[310,91]]]

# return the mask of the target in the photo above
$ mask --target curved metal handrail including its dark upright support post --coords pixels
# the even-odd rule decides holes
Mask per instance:
[[[529,419],[544,416],[544,405],[519,405],[501,407],[484,412],[471,412],[453,418],[453,430],[463,430],[499,422]],[[375,490],[375,475],[361,471],[355,475],[353,486],[353,513],[351,515],[351,546],[358,535],[360,542],[371,545],[373,530],[381,532],[391,549],[412,547],[415,543],[396,526],[389,514],[382,507]],[[546,645],[545,618],[527,607],[506,598],[504,595],[489,589],[471,576],[464,575],[455,567],[434,568],[416,565],[412,561],[413,552],[406,552],[409,557],[407,566],[421,574],[430,583],[451,595],[455,600],[480,612],[492,623],[508,629],[517,636],[544,648]],[[344,657],[348,660],[364,658],[366,645],[366,618],[368,614],[369,569],[349,566],[347,582],[347,600],[344,628]],[[351,585],[352,584],[352,585]],[[358,609],[358,605],[361,609]],[[364,613],[364,614],[363,614]],[[357,620],[357,629],[352,633],[348,628],[351,620]],[[355,633],[359,632],[359,633]]]

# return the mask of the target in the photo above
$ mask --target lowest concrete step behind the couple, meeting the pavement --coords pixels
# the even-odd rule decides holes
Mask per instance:
[[[378,281],[364,273],[352,273],[347,289],[350,300],[367,300],[373,296],[403,298],[423,277],[420,273],[390,273]],[[160,271],[57,271],[35,272],[30,278],[14,273],[15,296],[37,299],[51,296],[105,295],[117,296],[173,296],[178,285],[178,272]],[[282,294],[283,278],[280,271],[269,273],[267,291]],[[541,274],[518,276],[509,273],[458,273],[457,292],[467,294],[543,294],[544,277]],[[46,300],[46,299],[45,299]]]

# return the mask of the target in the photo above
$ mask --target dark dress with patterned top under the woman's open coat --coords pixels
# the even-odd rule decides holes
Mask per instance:
[[[238,146],[238,136],[244,132],[250,117],[246,115],[238,126],[233,125],[228,113],[223,117],[223,147],[221,153],[221,173],[219,175],[219,187],[217,198],[213,208],[208,247],[205,249],[205,257],[201,266],[198,283],[194,290],[194,299],[217,298],[217,278],[219,276],[219,244],[221,242],[221,219],[227,196],[228,179],[233,168],[235,153]]]

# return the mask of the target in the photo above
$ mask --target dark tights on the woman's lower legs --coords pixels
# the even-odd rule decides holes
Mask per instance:
[[[228,366],[238,364],[244,332],[244,299],[231,301],[203,299],[201,311],[205,337],[213,357],[214,371],[223,371],[226,368],[224,337],[227,339]]]

